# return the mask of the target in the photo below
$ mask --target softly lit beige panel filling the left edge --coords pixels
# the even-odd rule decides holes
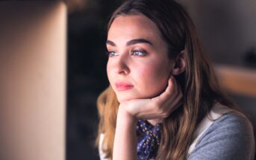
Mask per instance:
[[[0,159],[64,160],[66,4],[0,2]]]

